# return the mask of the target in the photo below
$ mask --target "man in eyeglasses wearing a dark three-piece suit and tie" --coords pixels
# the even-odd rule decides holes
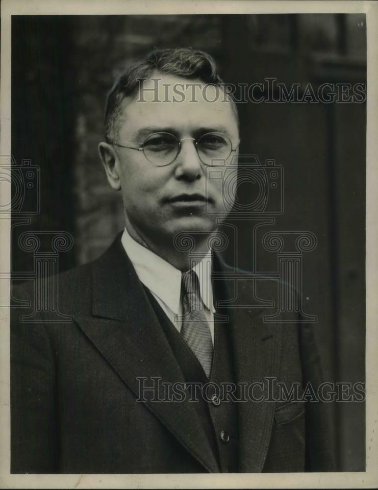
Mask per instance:
[[[108,95],[105,135],[100,156],[125,230],[98,260],[59,276],[59,312],[72,323],[49,312],[22,322],[13,309],[11,471],[332,469],[325,419],[271,399],[264,384],[317,382],[308,327],[265,324],[267,308],[227,308],[235,294],[249,305],[254,284],[236,289],[210,247],[226,209],[208,169],[223,161],[224,174],[240,143],[212,58],[166,49],[132,65]],[[271,300],[277,284],[262,282]],[[33,289],[14,297],[32,304]],[[242,396],[253,383],[256,399]],[[237,387],[232,396],[203,395],[222,384]]]

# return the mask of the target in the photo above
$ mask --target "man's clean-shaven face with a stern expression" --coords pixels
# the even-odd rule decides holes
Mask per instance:
[[[224,215],[222,178],[208,178],[210,168],[202,163],[194,141],[202,134],[225,134],[232,148],[238,147],[239,134],[231,102],[222,101],[223,94],[214,102],[216,91],[207,87],[205,100],[202,90],[197,89],[196,101],[192,88],[183,90],[182,102],[172,101],[172,85],[199,83],[171,75],[157,74],[159,102],[153,102],[155,94],[144,91],[146,101],[126,102],[121,116],[117,143],[139,147],[152,133],[168,132],[181,142],[176,160],[170,165],[154,166],[143,151],[114,146],[118,158],[119,182],[127,221],[142,237],[150,240],[169,239],[182,231],[211,233],[218,224],[216,218]],[[163,84],[170,85],[170,101],[166,98]],[[153,88],[151,80],[144,85]],[[180,87],[180,90],[181,87]],[[178,98],[181,99],[180,97]],[[232,151],[227,162],[236,154]],[[217,168],[224,173],[224,168]],[[220,175],[218,173],[218,176]]]

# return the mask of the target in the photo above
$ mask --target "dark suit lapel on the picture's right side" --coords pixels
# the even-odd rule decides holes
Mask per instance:
[[[236,281],[228,280],[226,284],[228,297],[236,296],[234,306],[228,309],[236,382],[244,383],[247,388],[262,382],[266,388],[266,378],[278,375],[281,327],[264,323],[265,308],[237,307],[237,304],[251,303],[254,297],[251,280],[237,285]],[[264,389],[265,401],[256,402],[247,392],[247,402],[237,403],[240,472],[260,472],[264,466],[275,410],[275,403],[266,401],[267,395]],[[261,396],[260,387],[254,389],[253,396]]]

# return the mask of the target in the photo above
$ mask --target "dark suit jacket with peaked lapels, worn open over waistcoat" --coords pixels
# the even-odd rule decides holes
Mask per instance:
[[[191,402],[137,401],[138,377],[184,379],[120,236],[98,260],[58,276],[58,309],[72,322],[41,313],[23,323],[28,310],[12,309],[13,473],[219,471]],[[249,304],[251,288],[239,284],[238,304]],[[259,296],[275,288],[262,285]],[[14,297],[33,306],[32,285]],[[261,308],[229,313],[237,382],[319,382],[308,325],[266,324]],[[326,417],[307,405],[237,403],[239,471],[333,470]]]

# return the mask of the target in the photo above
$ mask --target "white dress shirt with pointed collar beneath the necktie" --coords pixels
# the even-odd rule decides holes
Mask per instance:
[[[181,271],[139,245],[125,230],[122,234],[122,245],[131,260],[140,281],[151,291],[164,313],[178,331],[182,325]],[[211,339],[214,344],[214,302],[211,287],[211,250],[193,270],[200,283],[200,294],[203,302],[203,313],[209,323]]]

